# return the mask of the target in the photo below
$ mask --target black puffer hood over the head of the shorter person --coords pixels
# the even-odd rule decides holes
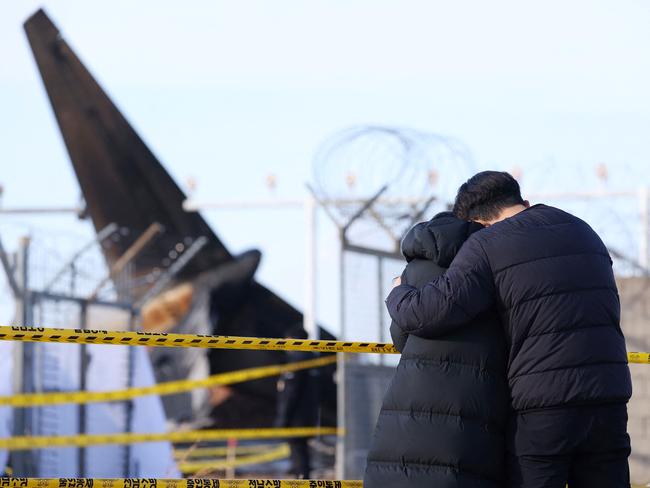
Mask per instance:
[[[442,212],[408,231],[402,240],[402,254],[408,262],[426,259],[448,268],[467,238],[481,229],[481,224],[460,220],[451,212]]]

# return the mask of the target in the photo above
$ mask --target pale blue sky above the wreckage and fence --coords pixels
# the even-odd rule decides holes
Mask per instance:
[[[41,5],[177,181],[199,181],[197,198],[265,196],[268,173],[278,196],[301,196],[318,145],[360,123],[452,135],[480,168],[524,168],[529,189],[593,187],[601,162],[610,186],[650,184],[647,1],[23,0],[0,6],[7,207],[79,196],[22,32]],[[302,304],[299,212],[206,218],[233,251],[264,250],[262,281]],[[318,317],[336,330],[336,241],[321,222]],[[89,232],[3,217],[5,243],[28,224]]]

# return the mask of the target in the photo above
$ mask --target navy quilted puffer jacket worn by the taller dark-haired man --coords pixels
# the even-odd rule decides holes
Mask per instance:
[[[473,234],[444,276],[386,300],[403,330],[437,337],[498,308],[516,411],[624,403],[632,393],[611,259],[598,235],[535,205]]]

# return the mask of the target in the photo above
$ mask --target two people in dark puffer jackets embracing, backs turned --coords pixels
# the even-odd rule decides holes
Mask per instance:
[[[620,301],[589,225],[485,171],[402,252],[364,488],[629,487]]]

